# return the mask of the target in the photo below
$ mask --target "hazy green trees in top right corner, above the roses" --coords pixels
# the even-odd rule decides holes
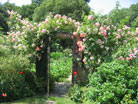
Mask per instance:
[[[138,17],[138,3],[132,4],[129,8],[120,9],[120,7],[120,3],[116,2],[116,7],[108,14],[112,23],[121,23],[125,18],[129,17],[125,22],[125,25],[133,26],[135,19]]]

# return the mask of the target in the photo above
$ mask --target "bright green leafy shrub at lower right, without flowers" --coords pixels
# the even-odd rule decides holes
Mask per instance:
[[[129,66],[126,61],[118,60],[103,63],[97,68],[97,72],[89,76],[91,89],[85,92],[84,101],[119,104],[127,95],[129,101],[135,100],[138,90],[137,76],[137,65]]]

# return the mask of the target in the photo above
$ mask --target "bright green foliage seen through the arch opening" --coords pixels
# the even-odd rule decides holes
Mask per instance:
[[[72,58],[69,52],[52,52],[50,73],[57,82],[68,78],[72,71]]]

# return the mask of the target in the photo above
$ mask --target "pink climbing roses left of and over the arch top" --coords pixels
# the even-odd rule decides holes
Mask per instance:
[[[8,23],[12,26],[8,32],[7,43],[17,52],[22,50],[30,54],[33,61],[34,57],[41,58],[47,36],[54,36],[58,32],[73,33],[80,25],[79,22],[60,14],[55,16],[50,14],[43,22],[31,23],[22,19],[16,12],[8,11],[8,13],[10,15]]]

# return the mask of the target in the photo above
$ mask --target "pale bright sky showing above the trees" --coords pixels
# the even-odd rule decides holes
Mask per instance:
[[[1,3],[7,0],[0,0]],[[9,0],[11,3],[15,3],[17,6],[31,4],[31,0]],[[109,13],[114,7],[117,0],[91,0],[89,6],[96,13],[101,12],[102,14]],[[131,4],[138,3],[138,0],[118,0],[121,8],[128,8]]]

